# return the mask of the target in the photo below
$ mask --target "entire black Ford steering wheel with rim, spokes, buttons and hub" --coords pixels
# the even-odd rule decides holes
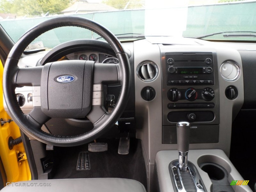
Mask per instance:
[[[113,48],[119,64],[65,60],[38,67],[18,67],[22,53],[36,37],[63,26],[82,27],[99,34]],[[130,76],[127,54],[108,29],[82,17],[57,17],[31,28],[11,49],[4,67],[4,98],[13,120],[26,134],[46,144],[76,146],[98,138],[118,120],[129,99]],[[113,83],[120,83],[121,91],[115,108],[109,113],[103,106],[104,88]],[[33,109],[29,114],[24,114],[18,105],[15,88],[19,86],[33,86]],[[50,118],[84,117],[94,128],[80,135],[58,136],[41,130]]]

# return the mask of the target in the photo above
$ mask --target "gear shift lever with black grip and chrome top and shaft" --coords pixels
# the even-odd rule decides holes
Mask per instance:
[[[189,148],[190,123],[180,121],[177,123],[177,143],[179,151],[179,170],[182,172],[188,169],[188,148]]]

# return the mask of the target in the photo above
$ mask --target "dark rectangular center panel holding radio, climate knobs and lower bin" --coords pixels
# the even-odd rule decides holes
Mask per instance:
[[[216,53],[162,52],[163,144],[177,143],[176,123],[189,121],[190,143],[219,139]]]

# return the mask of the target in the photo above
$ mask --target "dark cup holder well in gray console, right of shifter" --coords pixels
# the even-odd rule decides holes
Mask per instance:
[[[222,166],[216,163],[202,163],[200,168],[206,172],[211,180],[221,180],[227,177],[227,172]]]

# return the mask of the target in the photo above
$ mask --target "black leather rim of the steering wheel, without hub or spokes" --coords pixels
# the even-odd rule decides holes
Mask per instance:
[[[117,70],[118,80],[121,83],[121,92],[114,110],[111,113],[104,113],[103,116],[94,123],[93,130],[76,136],[51,135],[42,131],[41,123],[38,123],[29,114],[26,115],[22,112],[15,95],[15,88],[17,87],[16,76],[20,70],[17,65],[19,58],[24,52],[25,48],[39,35],[45,33],[48,30],[63,26],[82,27],[99,34],[110,44],[117,58],[119,59]],[[76,146],[98,138],[118,120],[129,99],[129,91],[131,87],[130,76],[131,72],[127,54],[124,52],[120,41],[108,29],[86,18],[63,16],[49,19],[36,25],[27,31],[17,41],[5,62],[3,74],[3,90],[7,108],[12,115],[13,120],[22,131],[43,143],[55,146]]]

